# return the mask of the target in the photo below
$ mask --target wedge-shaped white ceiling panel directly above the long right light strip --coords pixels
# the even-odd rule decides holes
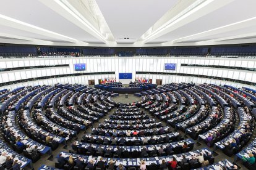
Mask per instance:
[[[171,31],[168,34],[164,34],[163,36],[154,39],[151,41],[151,43],[173,41],[174,39],[190,36],[192,34],[201,33],[203,31],[212,30],[221,26],[240,22],[248,18],[256,17],[254,9],[255,6],[255,0],[247,0],[246,3],[245,1],[235,0],[228,4],[228,6],[221,7],[208,15],[204,15],[193,22],[187,23],[177,30]],[[221,38],[222,36],[226,36],[226,34],[228,33],[220,34],[220,36],[214,36],[213,38]],[[194,39],[192,42],[196,41],[197,39]],[[201,41],[201,39],[198,39],[198,41]]]

